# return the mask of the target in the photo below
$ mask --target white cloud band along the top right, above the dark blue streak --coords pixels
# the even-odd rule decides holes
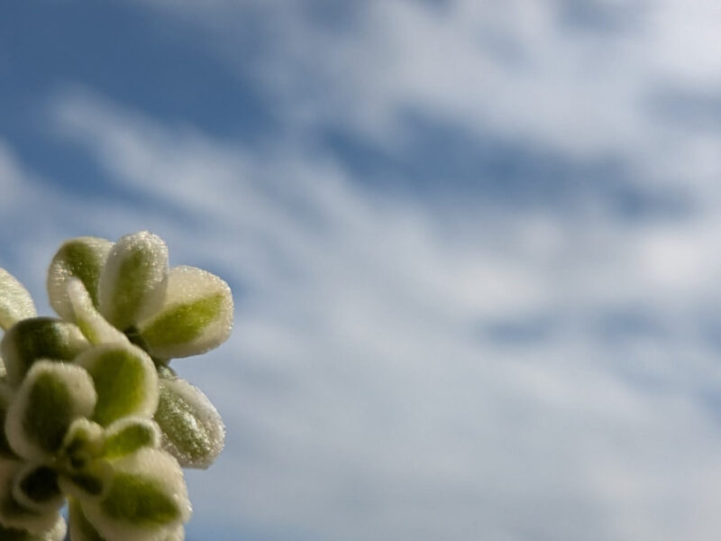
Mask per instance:
[[[643,107],[649,93],[721,83],[711,1],[586,2],[620,19],[607,32],[570,28],[572,3],[559,0],[366,2],[342,30],[319,24],[311,2],[153,4],[212,32],[204,42],[259,76],[284,119],[349,123],[387,143],[415,108],[563,151],[658,151],[667,140]],[[262,28],[260,61],[237,54],[247,20]]]

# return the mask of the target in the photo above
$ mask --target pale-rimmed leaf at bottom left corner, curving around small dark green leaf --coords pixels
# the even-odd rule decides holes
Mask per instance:
[[[39,513],[27,509],[13,497],[14,477],[22,468],[23,463],[0,460],[0,525],[36,535],[48,534],[58,527],[61,519],[58,511]]]

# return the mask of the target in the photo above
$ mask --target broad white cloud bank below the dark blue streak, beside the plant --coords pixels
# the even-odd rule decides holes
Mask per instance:
[[[451,235],[442,210],[380,197],[293,143],[250,153],[78,92],[53,111],[62,137],[157,202],[174,262],[239,291],[230,344],[178,362],[229,426],[221,462],[191,477],[201,525],[279,539],[716,536],[707,397],[721,372],[694,334],[717,297],[715,219],[570,229],[469,214]],[[628,307],[673,332],[599,336],[599,318]],[[549,320],[529,344],[485,333],[528,317]]]

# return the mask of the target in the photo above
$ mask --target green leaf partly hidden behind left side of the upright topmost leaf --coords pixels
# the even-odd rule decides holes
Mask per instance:
[[[97,237],[78,237],[60,246],[48,270],[50,306],[63,319],[74,320],[68,298],[68,280],[80,280],[97,307],[97,283],[113,243]]]

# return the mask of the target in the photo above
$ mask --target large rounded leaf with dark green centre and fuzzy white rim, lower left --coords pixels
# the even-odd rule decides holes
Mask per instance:
[[[5,418],[7,440],[28,460],[50,460],[70,424],[90,417],[96,405],[93,380],[83,368],[38,361],[15,393]]]

